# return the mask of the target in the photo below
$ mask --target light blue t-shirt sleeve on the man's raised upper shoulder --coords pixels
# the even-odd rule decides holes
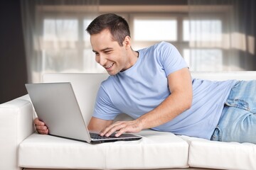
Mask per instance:
[[[181,54],[178,52],[176,47],[174,47],[174,45],[171,45],[168,42],[161,42],[159,52],[159,60],[164,71],[166,72],[166,77],[179,69],[188,67],[188,64],[186,64],[185,60],[183,57],[181,57]]]

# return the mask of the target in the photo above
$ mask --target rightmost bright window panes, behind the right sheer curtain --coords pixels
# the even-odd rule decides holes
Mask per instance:
[[[183,50],[183,57],[191,70],[223,71],[223,50],[215,47],[222,40],[222,29],[219,19],[183,20],[183,41],[196,42],[200,46]]]

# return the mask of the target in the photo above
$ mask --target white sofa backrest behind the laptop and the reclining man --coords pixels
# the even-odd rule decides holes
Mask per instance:
[[[88,123],[93,108],[95,106],[95,98],[101,81],[107,79],[107,73],[53,73],[44,74],[43,82],[71,82],[78,104],[82,111],[85,122]],[[256,79],[256,72],[191,72],[193,78],[210,79],[223,81],[227,79]],[[85,88],[89,86],[89,88]],[[88,99],[87,96],[90,96]],[[90,106],[90,107],[87,107]],[[120,115],[117,120],[129,119],[125,115]]]

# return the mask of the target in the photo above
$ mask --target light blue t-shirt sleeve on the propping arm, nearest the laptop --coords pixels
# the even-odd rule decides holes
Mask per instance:
[[[120,111],[117,108],[114,108],[110,97],[107,95],[107,92],[101,85],[99,91],[97,92],[95,109],[92,116],[103,120],[114,120],[119,113]]]

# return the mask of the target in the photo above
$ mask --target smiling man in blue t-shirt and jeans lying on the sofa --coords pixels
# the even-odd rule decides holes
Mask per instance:
[[[254,95],[241,91],[255,89],[255,81],[192,80],[173,45],[160,42],[132,50],[127,21],[113,13],[95,18],[87,32],[96,62],[110,74],[98,91],[89,130],[119,136],[151,128],[208,140],[256,143],[255,113],[241,103],[256,103]],[[113,123],[119,113],[134,120]],[[48,133],[43,122],[36,118],[34,123],[39,133]]]

